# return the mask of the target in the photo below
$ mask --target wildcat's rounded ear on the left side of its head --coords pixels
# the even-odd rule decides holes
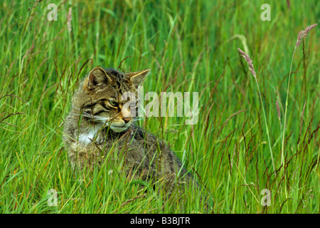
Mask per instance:
[[[85,83],[83,83],[83,88],[87,90],[91,90],[92,88],[95,88],[101,83],[108,84],[110,82],[111,82],[111,78],[110,76],[107,75],[105,70],[100,66],[96,66],[90,71],[87,78],[85,78]]]

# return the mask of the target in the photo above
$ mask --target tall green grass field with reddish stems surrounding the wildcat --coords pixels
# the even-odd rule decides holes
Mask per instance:
[[[270,21],[260,18],[265,3]],[[49,4],[58,6],[56,21]],[[110,175],[112,164],[93,177],[73,173],[63,120],[94,66],[151,68],[145,93],[198,92],[195,125],[186,117],[139,125],[199,176],[210,212],[319,213],[319,26],[292,62],[299,31],[319,15],[314,0],[1,1],[0,213],[204,212],[196,200],[183,209],[139,192],[116,170]],[[238,48],[253,61],[261,100]]]

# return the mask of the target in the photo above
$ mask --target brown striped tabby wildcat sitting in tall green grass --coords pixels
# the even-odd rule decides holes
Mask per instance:
[[[122,151],[122,168],[127,176],[136,180],[162,180],[169,191],[176,185],[180,189],[185,183],[193,185],[192,175],[182,167],[174,152],[154,135],[134,125],[130,111],[124,110],[128,100],[122,100],[122,95],[125,92],[137,95],[137,88],[149,71],[120,73],[95,67],[80,83],[65,118],[63,136],[73,168],[99,167],[117,145],[117,152]]]

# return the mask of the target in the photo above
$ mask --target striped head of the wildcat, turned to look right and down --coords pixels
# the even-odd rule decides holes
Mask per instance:
[[[110,125],[114,132],[122,132],[132,125],[134,118],[130,108],[136,107],[138,101],[131,99],[134,103],[130,103],[130,98],[123,95],[131,93],[137,98],[137,88],[149,71],[121,73],[97,66],[81,83],[73,97],[73,106],[82,111],[84,120],[92,124]]]

